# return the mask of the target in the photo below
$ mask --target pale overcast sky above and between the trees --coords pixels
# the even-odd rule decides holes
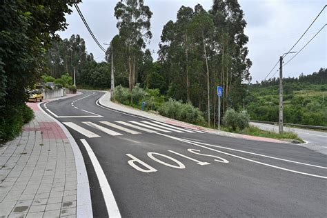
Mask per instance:
[[[175,21],[177,11],[181,6],[194,8],[200,3],[206,10],[212,6],[212,0],[144,0],[153,12],[151,31],[153,37],[148,48],[153,51],[152,57],[157,59],[157,50],[161,31],[169,21]],[[79,8],[83,13],[92,32],[100,43],[109,43],[118,33],[117,19],[114,17],[114,8],[118,0],[83,0]],[[248,25],[245,32],[249,37],[248,57],[252,61],[250,74],[252,83],[263,80],[275,66],[279,56],[294,45],[301,37],[317,14],[324,8],[325,0],[239,0],[244,10]],[[92,52],[96,61],[103,61],[104,54],[97,47],[88,33],[81,18],[73,12],[66,16],[69,24],[67,30],[59,32],[61,38],[69,38],[72,34],[79,34],[86,41],[88,53]],[[305,37],[293,49],[299,51],[327,21],[327,8],[321,13]],[[327,63],[327,26],[311,41],[293,61],[284,67],[284,77],[298,77],[326,68]],[[103,46],[106,48],[106,46]],[[294,54],[288,54],[285,62]],[[277,68],[271,73],[275,73]],[[277,76],[277,74],[276,74]],[[270,76],[267,78],[269,79]]]

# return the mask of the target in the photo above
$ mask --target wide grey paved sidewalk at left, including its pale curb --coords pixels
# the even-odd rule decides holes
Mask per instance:
[[[28,106],[34,119],[0,147],[0,217],[92,217],[77,145],[37,103]]]

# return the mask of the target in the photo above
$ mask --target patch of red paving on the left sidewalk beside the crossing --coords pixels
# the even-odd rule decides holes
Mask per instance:
[[[40,127],[25,127],[24,131],[41,131],[43,139],[67,139],[56,122],[39,122]]]

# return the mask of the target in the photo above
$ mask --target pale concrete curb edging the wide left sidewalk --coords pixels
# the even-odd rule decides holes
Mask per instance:
[[[79,92],[78,95],[81,95],[81,92]],[[59,99],[52,99],[50,101],[58,101],[60,99],[67,99],[70,97],[75,97],[77,95],[69,96],[69,97],[63,97]],[[46,101],[46,102],[50,102]],[[72,151],[74,152],[75,157],[75,165],[76,165],[76,173],[77,173],[77,208],[76,208],[76,214],[77,217],[93,217],[92,212],[92,201],[91,201],[91,195],[90,195],[90,185],[88,181],[88,173],[86,171],[86,166],[84,163],[83,155],[81,154],[81,150],[79,149],[79,146],[77,145],[77,142],[72,137],[68,129],[63,126],[62,123],[60,123],[57,119],[54,119],[54,117],[51,117],[46,113],[43,108],[41,108],[41,104],[45,102],[38,103],[39,109],[45,113],[48,117],[50,117],[52,120],[54,120],[60,128],[65,132],[65,135],[67,136],[70,145],[72,146]]]

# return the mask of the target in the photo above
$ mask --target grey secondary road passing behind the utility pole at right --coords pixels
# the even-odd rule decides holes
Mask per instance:
[[[274,130],[278,132],[278,126],[266,124],[266,123],[251,123],[263,130]],[[319,146],[326,146],[327,148],[327,132],[319,132],[313,130],[304,130],[299,128],[284,127],[286,131],[292,131],[297,133],[301,139],[308,141],[309,143],[314,143]]]

